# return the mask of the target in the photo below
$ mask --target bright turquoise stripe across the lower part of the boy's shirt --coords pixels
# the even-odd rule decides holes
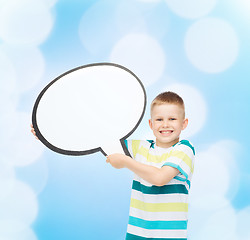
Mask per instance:
[[[147,221],[136,217],[129,217],[129,224],[144,229],[186,230],[187,221]]]

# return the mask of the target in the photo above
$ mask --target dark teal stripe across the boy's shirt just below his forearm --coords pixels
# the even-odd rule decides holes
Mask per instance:
[[[158,186],[148,187],[134,180],[132,189],[142,192],[144,194],[174,194],[174,193],[188,194],[188,190],[183,184],[164,185],[161,187]]]

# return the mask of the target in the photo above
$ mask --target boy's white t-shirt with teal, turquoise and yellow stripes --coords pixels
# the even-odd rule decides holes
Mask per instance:
[[[126,240],[186,240],[194,147],[187,140],[170,148],[158,147],[154,141],[126,140],[125,143],[136,161],[158,168],[171,166],[180,171],[160,187],[135,175]]]

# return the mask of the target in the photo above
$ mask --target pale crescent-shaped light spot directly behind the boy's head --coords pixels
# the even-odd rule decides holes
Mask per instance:
[[[182,138],[189,138],[200,131],[206,121],[207,106],[202,94],[194,87],[186,84],[172,84],[165,91],[173,91],[182,97],[185,104],[188,126],[182,132]]]

